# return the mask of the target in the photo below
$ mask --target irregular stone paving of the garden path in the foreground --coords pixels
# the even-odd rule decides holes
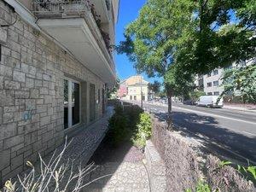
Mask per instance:
[[[142,160],[108,162],[98,166],[90,179],[112,174],[92,183],[84,192],[149,192],[148,173]]]

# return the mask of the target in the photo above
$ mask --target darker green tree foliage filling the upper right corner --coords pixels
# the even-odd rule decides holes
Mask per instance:
[[[176,53],[185,70],[208,73],[255,57],[256,1],[200,0],[192,14],[195,25]]]

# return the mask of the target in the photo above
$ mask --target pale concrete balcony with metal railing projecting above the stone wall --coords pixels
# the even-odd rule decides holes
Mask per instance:
[[[108,7],[105,0],[96,2],[38,0],[33,2],[32,11],[38,17],[38,26],[70,50],[103,81],[113,84],[115,66],[111,39],[101,26],[102,20],[109,20]]]

